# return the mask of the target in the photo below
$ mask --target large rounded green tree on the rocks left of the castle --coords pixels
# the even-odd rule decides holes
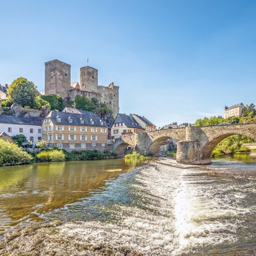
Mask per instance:
[[[23,107],[29,106],[33,108],[37,97],[37,88],[33,82],[26,78],[15,79],[8,89],[9,102],[16,102]]]

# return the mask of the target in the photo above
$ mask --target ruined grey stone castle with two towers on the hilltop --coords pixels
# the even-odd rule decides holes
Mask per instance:
[[[94,67],[80,68],[80,83],[71,83],[70,65],[59,61],[45,62],[45,94],[59,94],[66,101],[74,101],[76,95],[85,95],[89,99],[96,97],[113,110],[116,118],[119,112],[119,86],[98,85],[98,70]]]

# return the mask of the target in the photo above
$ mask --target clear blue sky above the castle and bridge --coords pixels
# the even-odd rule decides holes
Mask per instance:
[[[256,104],[255,0],[0,0],[0,83],[44,90],[45,62],[98,69],[120,113],[157,127]],[[89,63],[87,63],[89,59]]]

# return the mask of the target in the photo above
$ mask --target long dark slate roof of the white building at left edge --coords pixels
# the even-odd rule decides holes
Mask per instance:
[[[0,124],[26,124],[41,126],[42,119],[42,117],[21,118],[19,116],[0,115]]]

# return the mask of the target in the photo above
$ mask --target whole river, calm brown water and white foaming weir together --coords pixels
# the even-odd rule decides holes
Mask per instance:
[[[108,161],[0,169],[0,255],[256,255],[253,156],[208,166]],[[57,220],[54,233],[7,239]]]

